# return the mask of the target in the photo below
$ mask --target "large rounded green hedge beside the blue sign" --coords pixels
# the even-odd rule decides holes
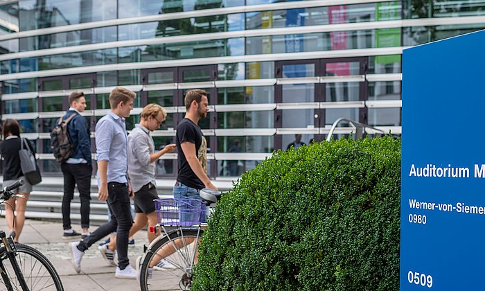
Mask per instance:
[[[400,139],[275,152],[222,198],[193,290],[398,290]]]

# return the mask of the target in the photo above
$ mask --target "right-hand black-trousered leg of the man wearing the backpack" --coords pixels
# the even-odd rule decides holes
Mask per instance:
[[[81,201],[81,227],[82,233],[87,233],[89,229],[89,200],[91,200],[91,164],[78,164],[78,175],[75,176],[78,185]]]

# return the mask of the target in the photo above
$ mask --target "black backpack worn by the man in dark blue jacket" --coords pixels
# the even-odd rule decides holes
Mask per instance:
[[[67,125],[75,115],[76,113],[72,114],[65,121],[61,117],[58,124],[51,131],[51,152],[59,163],[67,161],[75,150],[74,145],[71,143],[71,137],[67,132]]]

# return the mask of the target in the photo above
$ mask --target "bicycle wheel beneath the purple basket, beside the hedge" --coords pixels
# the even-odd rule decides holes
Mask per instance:
[[[141,290],[190,290],[202,232],[175,229],[147,249],[139,266]]]

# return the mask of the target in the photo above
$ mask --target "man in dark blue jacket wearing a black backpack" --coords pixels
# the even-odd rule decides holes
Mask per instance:
[[[91,172],[93,168],[91,166],[89,123],[87,123],[85,117],[81,116],[81,112],[86,109],[84,94],[82,92],[71,93],[69,105],[69,110],[58,122],[58,128],[53,130],[51,134],[51,148],[56,160],[61,162],[62,175],[64,175],[64,197],[62,197],[64,234],[62,238],[81,235],[82,238],[85,238],[89,236],[89,200],[91,199]],[[62,128],[63,126],[64,128]],[[64,131],[62,131],[63,129]],[[56,130],[57,132],[54,134]],[[67,136],[65,136],[66,132]],[[73,200],[76,184],[81,200],[82,233],[74,231],[71,227],[71,200]]]

